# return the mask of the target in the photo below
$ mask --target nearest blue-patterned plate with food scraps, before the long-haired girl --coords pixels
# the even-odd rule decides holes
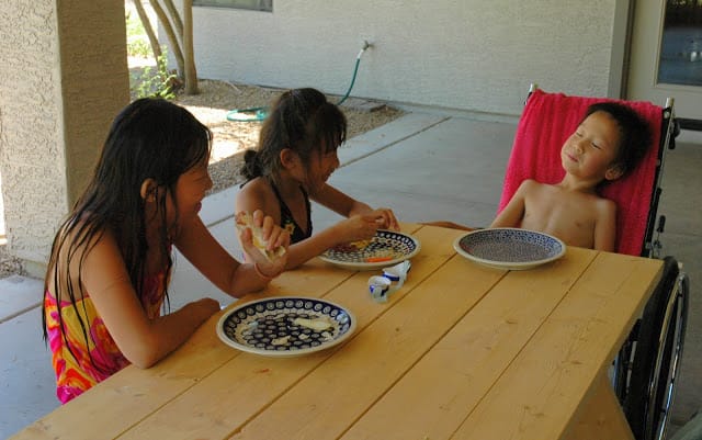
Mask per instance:
[[[293,357],[336,346],[355,325],[349,311],[328,301],[276,296],[233,308],[219,318],[217,336],[241,351]]]

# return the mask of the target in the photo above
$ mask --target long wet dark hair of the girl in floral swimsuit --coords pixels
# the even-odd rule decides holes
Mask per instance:
[[[207,160],[211,148],[211,131],[184,108],[162,99],[136,100],[115,117],[91,181],[54,238],[44,280],[44,295],[48,294],[49,280],[54,283],[60,331],[73,358],[76,353],[68,343],[61,317],[61,302],[68,300],[76,307],[77,298],[82,296],[77,295],[82,289],[80,272],[76,282],[69,273],[71,261],[78,259],[82,267],[86,253],[105,232],[111,232],[120,246],[139,304],[143,304],[147,218],[141,183],[154,179],[158,184],[155,216],[160,222],[159,246],[167,258],[166,271],[170,272],[169,232],[178,228],[178,218],[174,224],[168,224],[167,194],[174,193],[181,174]],[[177,203],[174,199],[172,201]],[[59,255],[65,256],[60,262]],[[168,292],[166,297],[168,300]],[[83,323],[82,317],[77,316],[88,345],[90,323]],[[42,324],[46,341],[45,313]],[[94,360],[91,361],[94,364]]]

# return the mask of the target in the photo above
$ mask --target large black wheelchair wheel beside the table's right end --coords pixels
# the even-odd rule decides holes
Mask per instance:
[[[689,280],[672,257],[664,264],[636,335],[632,332],[615,364],[615,373],[622,374],[614,381],[615,392],[637,440],[665,436],[684,342]]]

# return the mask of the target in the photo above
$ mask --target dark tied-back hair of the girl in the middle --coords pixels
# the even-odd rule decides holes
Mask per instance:
[[[314,151],[336,151],[347,138],[347,119],[319,90],[305,88],[283,92],[261,128],[257,149],[246,151],[241,174],[275,181],[281,151],[290,148],[305,166]]]

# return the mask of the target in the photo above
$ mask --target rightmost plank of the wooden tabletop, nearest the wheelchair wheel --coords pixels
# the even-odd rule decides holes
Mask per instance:
[[[452,439],[558,439],[660,279],[660,260],[600,252]]]

